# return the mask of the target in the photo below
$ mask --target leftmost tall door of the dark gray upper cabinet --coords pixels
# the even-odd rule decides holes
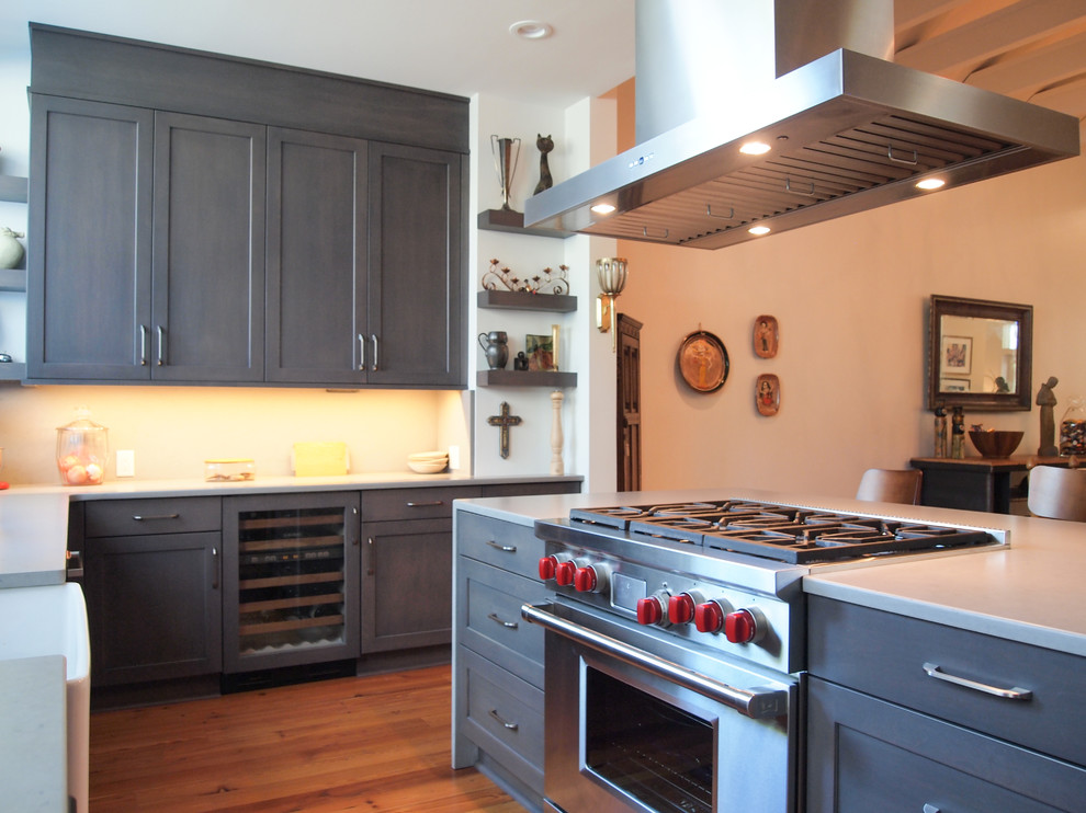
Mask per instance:
[[[31,108],[27,378],[147,380],[154,113]]]

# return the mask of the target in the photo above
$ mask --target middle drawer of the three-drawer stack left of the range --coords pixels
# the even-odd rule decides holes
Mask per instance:
[[[543,628],[522,619],[520,606],[542,602],[543,584],[465,557],[456,581],[460,643],[542,688]]]

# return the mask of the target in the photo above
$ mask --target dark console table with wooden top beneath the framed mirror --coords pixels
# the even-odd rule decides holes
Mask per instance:
[[[914,469],[924,472],[920,504],[939,508],[965,508],[995,514],[1026,514],[1030,465],[1067,466],[1065,457],[989,458],[914,457]]]

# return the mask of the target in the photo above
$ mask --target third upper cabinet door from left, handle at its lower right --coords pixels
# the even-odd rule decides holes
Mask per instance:
[[[268,134],[269,381],[363,383],[366,142]]]

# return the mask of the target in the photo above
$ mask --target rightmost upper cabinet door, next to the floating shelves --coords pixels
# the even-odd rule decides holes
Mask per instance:
[[[370,145],[370,383],[465,383],[463,160]]]

